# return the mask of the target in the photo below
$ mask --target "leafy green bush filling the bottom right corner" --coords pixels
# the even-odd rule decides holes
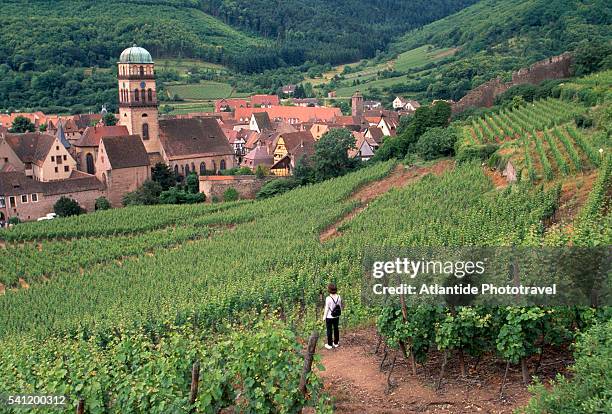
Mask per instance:
[[[609,412],[612,395],[612,320],[593,326],[576,341],[570,368],[573,378],[561,374],[549,390],[543,384],[530,387],[534,394],[524,413]]]

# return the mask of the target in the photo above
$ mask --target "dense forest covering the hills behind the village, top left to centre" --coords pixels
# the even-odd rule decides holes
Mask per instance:
[[[238,73],[348,62],[474,1],[2,0],[0,109],[114,109],[113,66],[132,43]]]

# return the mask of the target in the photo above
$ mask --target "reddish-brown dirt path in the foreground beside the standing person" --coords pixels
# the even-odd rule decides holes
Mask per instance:
[[[503,364],[493,359],[484,361],[484,358],[478,372],[470,369],[466,378],[461,378],[458,364],[451,358],[449,372],[441,389],[436,391],[434,384],[440,367],[440,358],[436,354],[425,365],[417,366],[416,377],[398,356],[391,377],[393,386],[387,393],[388,367],[384,372],[380,371],[382,352],[374,354],[376,343],[375,329],[365,328],[341,337],[337,349],[322,348],[318,351],[325,366],[325,371],[319,374],[333,398],[336,413],[505,414],[512,413],[529,399],[518,368],[511,370],[504,397],[500,399]]]

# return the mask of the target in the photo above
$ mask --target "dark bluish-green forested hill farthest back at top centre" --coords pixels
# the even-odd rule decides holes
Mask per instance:
[[[385,50],[407,30],[478,0],[203,0],[202,8],[234,27],[279,39],[289,65],[354,62]]]

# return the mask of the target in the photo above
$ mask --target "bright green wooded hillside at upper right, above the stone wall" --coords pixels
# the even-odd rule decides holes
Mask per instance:
[[[577,51],[576,75],[612,67],[612,3],[608,0],[483,0],[390,46],[395,54],[422,45],[456,47],[430,76],[404,82],[392,93],[427,92],[461,98],[496,76],[565,51]]]

